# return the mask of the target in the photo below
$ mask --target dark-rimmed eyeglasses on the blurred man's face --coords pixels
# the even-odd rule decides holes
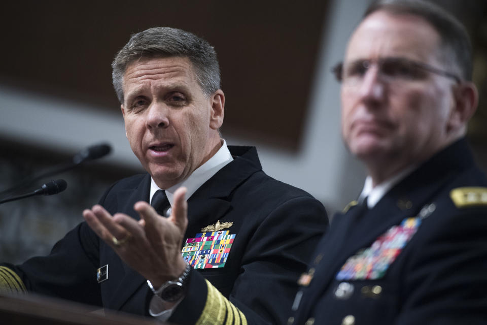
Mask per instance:
[[[456,74],[437,69],[429,64],[402,57],[386,57],[378,60],[356,60],[350,63],[339,62],[333,67],[338,82],[343,85],[359,85],[362,83],[369,68],[377,64],[379,77],[385,82],[401,83],[419,81],[426,78],[428,72],[454,79],[456,83],[462,83]]]

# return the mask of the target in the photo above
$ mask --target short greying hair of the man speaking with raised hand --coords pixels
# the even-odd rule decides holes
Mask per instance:
[[[176,56],[189,58],[196,81],[206,95],[220,89],[220,66],[213,46],[182,29],[153,27],[133,34],[112,62],[113,86],[120,103],[128,64],[140,58]]]

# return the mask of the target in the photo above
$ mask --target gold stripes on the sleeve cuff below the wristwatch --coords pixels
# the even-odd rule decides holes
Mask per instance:
[[[247,318],[228,301],[210,281],[206,281],[208,295],[196,325],[247,325]]]

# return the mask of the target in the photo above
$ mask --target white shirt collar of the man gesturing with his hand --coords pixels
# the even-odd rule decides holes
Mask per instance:
[[[193,193],[201,185],[204,184],[204,182],[212,178],[213,175],[215,175],[220,169],[222,169],[224,166],[226,166],[233,160],[232,155],[230,154],[230,150],[228,150],[226,141],[224,139],[222,139],[222,141],[223,144],[220,147],[220,149],[210,159],[208,159],[206,163],[204,163],[203,165],[195,169],[194,172],[191,173],[191,175],[189,175],[189,177],[183,180],[182,182],[173,185],[169,188],[166,188],[167,200],[169,200],[171,206],[172,206],[172,200],[174,198],[174,192],[178,188],[180,188],[181,186],[185,186],[187,188],[186,199],[189,199],[193,195]],[[154,179],[151,178],[151,192],[150,192],[151,199],[149,203],[152,201],[152,197],[154,196],[154,193],[158,189],[161,188],[157,186]]]

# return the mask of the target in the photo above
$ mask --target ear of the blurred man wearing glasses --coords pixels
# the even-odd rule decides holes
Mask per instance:
[[[450,112],[448,131],[465,126],[477,109],[478,91],[472,82],[457,85],[453,90],[454,107]]]

